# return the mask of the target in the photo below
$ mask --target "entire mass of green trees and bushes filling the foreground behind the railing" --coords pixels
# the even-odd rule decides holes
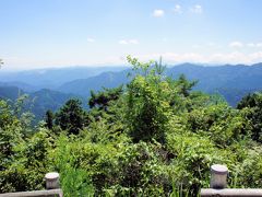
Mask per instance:
[[[128,57],[129,82],[34,115],[0,101],[0,193],[43,189],[59,172],[64,196],[198,196],[210,166],[226,164],[229,187],[262,185],[262,93],[237,107],[162,62]]]

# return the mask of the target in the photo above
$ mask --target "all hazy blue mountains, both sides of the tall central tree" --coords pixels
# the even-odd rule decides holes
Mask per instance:
[[[47,109],[58,109],[70,97],[79,97],[86,104],[91,90],[126,83],[130,71],[127,67],[0,71],[0,97],[15,100],[27,93],[35,102],[33,112],[43,117]],[[181,73],[199,81],[194,90],[219,93],[233,106],[247,93],[262,90],[262,63],[216,67],[183,63],[166,69],[166,74],[172,78]]]

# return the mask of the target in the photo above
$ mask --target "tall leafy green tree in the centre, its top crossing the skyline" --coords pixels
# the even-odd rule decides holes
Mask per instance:
[[[128,57],[136,76],[127,86],[126,123],[134,142],[164,142],[170,115],[170,84],[158,62],[141,63]]]

